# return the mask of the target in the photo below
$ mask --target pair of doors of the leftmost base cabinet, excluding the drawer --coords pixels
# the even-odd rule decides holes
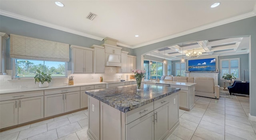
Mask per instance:
[[[0,101],[0,128],[44,117],[44,96]]]

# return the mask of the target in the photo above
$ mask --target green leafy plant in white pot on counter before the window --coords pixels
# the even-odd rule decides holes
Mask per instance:
[[[49,83],[52,80],[52,77],[51,77],[52,74],[45,74],[44,72],[41,72],[40,70],[36,70],[36,73],[37,74],[34,77],[35,84],[36,84],[36,82],[39,82],[39,88],[48,87]]]

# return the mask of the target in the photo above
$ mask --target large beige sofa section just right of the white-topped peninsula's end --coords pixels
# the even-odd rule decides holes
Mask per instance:
[[[210,97],[219,99],[220,98],[220,86],[214,85],[214,78],[195,77],[195,95]]]

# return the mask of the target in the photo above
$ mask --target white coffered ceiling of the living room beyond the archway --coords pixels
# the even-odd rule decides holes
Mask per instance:
[[[201,56],[226,56],[234,54],[249,53],[249,37],[238,37],[228,39],[203,40],[189,43],[182,43],[162,48],[146,55],[151,55],[158,58],[165,58],[167,60],[180,60],[186,58],[187,53],[192,51],[202,52]]]

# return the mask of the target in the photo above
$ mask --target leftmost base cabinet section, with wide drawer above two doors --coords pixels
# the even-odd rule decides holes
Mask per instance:
[[[44,117],[44,91],[0,95],[0,128]]]

